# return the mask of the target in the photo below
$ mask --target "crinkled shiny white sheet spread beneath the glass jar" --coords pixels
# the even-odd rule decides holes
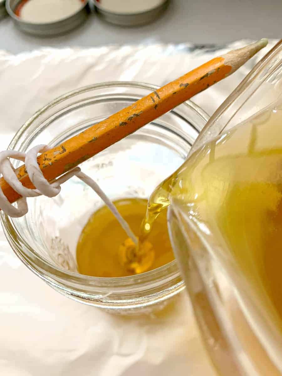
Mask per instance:
[[[36,110],[80,86],[125,80],[164,85],[203,62],[239,48],[107,46],[0,51],[0,148]],[[193,98],[212,114],[271,41],[235,74]],[[188,297],[156,314],[115,317],[64,296],[31,273],[0,231],[0,374],[9,376],[214,375]]]

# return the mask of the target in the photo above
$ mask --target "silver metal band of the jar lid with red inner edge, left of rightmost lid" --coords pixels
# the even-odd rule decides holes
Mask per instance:
[[[24,21],[15,14],[17,6],[20,5],[22,1],[23,0],[6,0],[7,12],[19,29],[38,36],[53,36],[68,32],[85,21],[89,13],[88,0],[85,0],[78,11],[65,18],[45,23],[36,22],[36,20],[34,22]]]

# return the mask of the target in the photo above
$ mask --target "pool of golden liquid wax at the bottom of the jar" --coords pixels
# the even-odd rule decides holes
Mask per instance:
[[[114,202],[133,233],[138,236],[147,208],[145,199],[121,199]],[[158,268],[174,259],[168,237],[166,211],[156,221],[147,241],[154,252],[153,263],[145,271]],[[77,243],[79,273],[95,277],[124,277],[135,274],[120,261],[120,246],[127,235],[114,215],[103,206],[89,218]]]

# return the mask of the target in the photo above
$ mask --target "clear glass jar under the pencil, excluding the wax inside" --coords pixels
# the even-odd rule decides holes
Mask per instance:
[[[54,147],[155,89],[141,83],[112,82],[72,91],[36,112],[17,132],[9,149],[26,152],[37,144]],[[193,102],[183,103],[84,162],[82,170],[111,199],[147,198],[186,159],[207,120],[208,115]],[[15,168],[19,165],[14,163]],[[128,313],[161,305],[183,290],[175,261],[132,277],[77,273],[77,238],[89,215],[102,204],[74,177],[53,199],[28,199],[29,212],[24,217],[9,218],[1,212],[1,220],[21,261],[51,287],[77,301]]]

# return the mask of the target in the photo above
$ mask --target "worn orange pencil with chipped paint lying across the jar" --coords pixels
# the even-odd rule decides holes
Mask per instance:
[[[49,181],[64,174],[200,91],[229,76],[265,45],[267,45],[267,39],[261,39],[242,49],[214,58],[61,145],[42,153],[37,159],[42,173]],[[30,182],[24,165],[19,167],[16,173],[24,186],[35,188]],[[3,177],[0,179],[0,187],[11,203],[21,197]]]

